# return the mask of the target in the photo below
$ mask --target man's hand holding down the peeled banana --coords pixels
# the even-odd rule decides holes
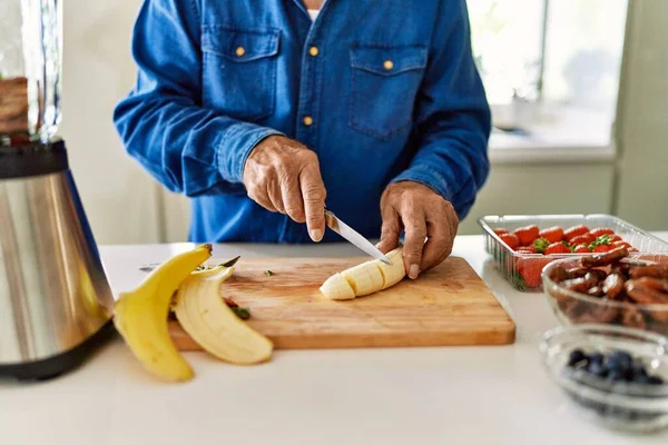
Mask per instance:
[[[394,249],[405,230],[403,257],[410,278],[438,266],[452,251],[459,218],[452,205],[431,188],[413,181],[393,182],[383,192],[381,212],[379,248],[383,253]]]

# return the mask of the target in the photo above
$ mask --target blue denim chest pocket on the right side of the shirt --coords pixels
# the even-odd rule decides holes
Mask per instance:
[[[350,126],[380,139],[409,127],[425,66],[425,47],[352,48]]]

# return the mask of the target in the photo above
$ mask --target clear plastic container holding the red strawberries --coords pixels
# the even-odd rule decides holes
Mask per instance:
[[[537,225],[541,229],[552,226],[561,226],[567,229],[580,224],[586,225],[590,229],[609,227],[625,241],[637,248],[640,254],[668,253],[668,243],[611,215],[488,215],[478,219],[478,222],[482,227],[485,251],[494,258],[494,264],[501,275],[519,290],[540,290],[542,288],[542,283],[527,283],[522,273],[527,277],[528,270],[536,271],[542,269],[554,259],[595,254],[518,254],[494,234],[494,229],[504,228],[512,231],[519,227],[529,225]]]

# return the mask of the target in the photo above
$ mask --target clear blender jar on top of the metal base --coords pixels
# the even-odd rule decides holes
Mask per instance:
[[[60,123],[62,0],[0,1],[0,146],[48,144]]]

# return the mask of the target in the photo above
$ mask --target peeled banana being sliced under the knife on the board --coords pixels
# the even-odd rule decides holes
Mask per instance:
[[[353,299],[386,289],[406,275],[402,258],[403,247],[390,251],[386,257],[392,265],[377,259],[334,274],[323,283],[320,291],[331,299]]]

